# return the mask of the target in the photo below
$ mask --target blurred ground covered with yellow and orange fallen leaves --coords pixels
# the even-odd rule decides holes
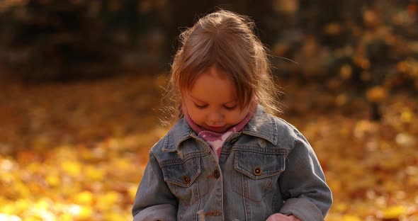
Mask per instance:
[[[0,81],[0,220],[130,220],[164,78]],[[397,91],[372,121],[363,96],[280,82],[283,118],[332,188],[326,220],[418,220],[418,99]]]

